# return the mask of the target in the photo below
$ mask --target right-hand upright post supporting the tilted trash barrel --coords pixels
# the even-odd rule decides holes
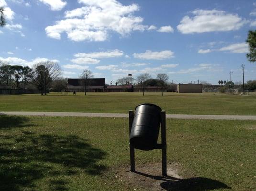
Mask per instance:
[[[167,176],[166,166],[166,112],[161,111],[162,175]]]

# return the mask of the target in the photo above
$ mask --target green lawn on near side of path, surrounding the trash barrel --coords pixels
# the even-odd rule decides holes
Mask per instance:
[[[126,118],[0,116],[0,153],[1,191],[144,190],[116,178],[129,165]],[[255,121],[167,120],[167,162],[191,191],[255,190],[255,159]],[[136,150],[137,165],[160,161]]]

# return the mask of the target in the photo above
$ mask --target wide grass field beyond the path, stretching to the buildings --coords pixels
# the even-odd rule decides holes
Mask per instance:
[[[0,95],[0,111],[127,113],[140,103],[154,103],[168,114],[256,115],[256,97],[229,94],[50,93]]]

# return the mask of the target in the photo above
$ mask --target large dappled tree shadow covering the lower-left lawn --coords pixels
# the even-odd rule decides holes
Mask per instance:
[[[106,153],[74,135],[12,131],[0,137],[0,153],[0,191],[65,191],[73,175],[107,169],[99,164]]]

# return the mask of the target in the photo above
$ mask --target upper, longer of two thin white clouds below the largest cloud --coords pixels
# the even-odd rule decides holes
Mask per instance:
[[[75,57],[89,57],[89,58],[113,58],[113,57],[120,57],[123,55],[123,52],[115,49],[111,51],[105,52],[93,52],[93,53],[77,53]]]

